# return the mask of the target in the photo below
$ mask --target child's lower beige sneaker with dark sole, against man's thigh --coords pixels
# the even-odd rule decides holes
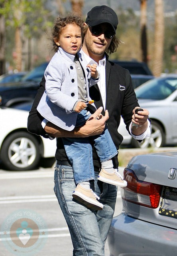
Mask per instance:
[[[92,189],[83,188],[80,184],[73,191],[73,198],[92,210],[102,210],[103,208],[103,204],[98,202],[99,196]]]

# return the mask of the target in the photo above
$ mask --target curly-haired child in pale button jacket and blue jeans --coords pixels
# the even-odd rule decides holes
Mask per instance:
[[[83,54],[81,56],[82,29],[83,20],[77,16],[57,17],[53,29],[53,44],[57,50],[45,70],[45,92],[37,107],[47,121],[69,131],[82,126],[90,117],[86,110],[91,100],[88,86],[99,80],[96,63],[93,61],[87,65]],[[118,170],[113,168],[111,158],[118,152],[108,129],[105,128],[100,136],[62,140],[77,185],[73,198],[88,208],[102,210],[98,196],[90,189],[90,181],[94,180],[91,140],[101,162],[98,180],[127,186]]]

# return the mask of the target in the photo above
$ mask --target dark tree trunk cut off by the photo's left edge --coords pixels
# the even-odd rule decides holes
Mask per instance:
[[[0,4],[0,8],[2,4]],[[0,75],[6,72],[5,70],[5,42],[6,42],[6,33],[5,33],[5,19],[4,16],[0,14]]]

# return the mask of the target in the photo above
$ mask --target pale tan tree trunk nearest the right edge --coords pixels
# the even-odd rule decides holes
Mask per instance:
[[[160,76],[163,70],[164,18],[163,0],[155,0],[155,35],[153,54],[153,74]]]

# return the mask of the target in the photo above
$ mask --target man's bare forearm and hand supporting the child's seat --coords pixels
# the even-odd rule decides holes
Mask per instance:
[[[94,112],[94,114],[90,116],[85,125],[77,127],[71,132],[63,130],[50,122],[48,122],[45,126],[45,132],[47,132],[47,134],[55,138],[85,138],[89,136],[99,135],[103,132],[106,121],[109,118],[107,110],[105,111],[105,116],[102,116],[101,112],[102,107],[98,108]]]

